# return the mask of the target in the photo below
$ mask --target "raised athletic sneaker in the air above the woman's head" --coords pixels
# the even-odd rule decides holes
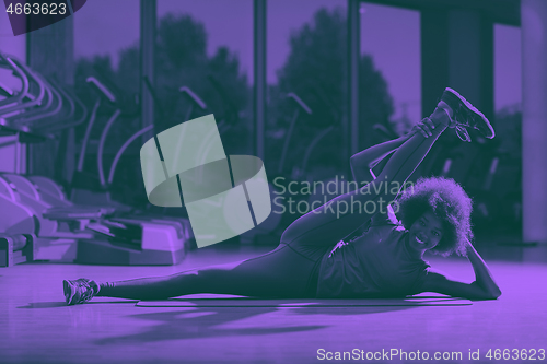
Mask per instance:
[[[492,139],[496,136],[486,116],[455,90],[446,87],[441,101],[445,102],[454,111],[452,119],[456,122],[456,132],[462,140],[470,141],[465,127],[477,129],[488,139]]]

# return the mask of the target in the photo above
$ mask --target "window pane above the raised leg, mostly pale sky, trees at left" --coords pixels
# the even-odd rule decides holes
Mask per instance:
[[[361,12],[361,108],[368,122],[385,125],[403,134],[421,119],[420,13],[418,11],[363,2]],[[385,82],[393,108],[380,109],[379,89]],[[387,106],[387,105],[386,105]],[[384,107],[386,107],[384,106]],[[387,114],[387,115],[386,115]],[[381,133],[380,128],[374,128]]]

